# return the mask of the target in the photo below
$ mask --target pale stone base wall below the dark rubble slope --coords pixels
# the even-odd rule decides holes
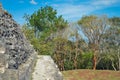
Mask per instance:
[[[7,68],[5,54],[0,53],[0,80],[31,80],[33,67],[36,62],[36,52],[32,54],[18,69]]]

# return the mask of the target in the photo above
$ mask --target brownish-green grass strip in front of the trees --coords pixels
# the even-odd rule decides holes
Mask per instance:
[[[80,69],[62,73],[65,80],[120,80],[120,71]]]

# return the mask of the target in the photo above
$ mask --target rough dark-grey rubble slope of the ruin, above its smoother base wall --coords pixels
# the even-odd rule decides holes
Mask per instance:
[[[9,69],[18,69],[34,52],[20,28],[0,4],[0,53],[5,52]]]

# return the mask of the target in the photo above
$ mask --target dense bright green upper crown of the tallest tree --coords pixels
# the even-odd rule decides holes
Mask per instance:
[[[52,22],[57,18],[56,14],[56,10],[53,10],[50,6],[41,7],[30,16],[29,23],[43,31],[46,28],[53,27]]]

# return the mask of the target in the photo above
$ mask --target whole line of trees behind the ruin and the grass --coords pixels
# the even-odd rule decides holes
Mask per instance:
[[[68,23],[45,6],[24,18],[26,38],[39,55],[50,55],[61,71],[120,70],[120,17],[87,15]]]

